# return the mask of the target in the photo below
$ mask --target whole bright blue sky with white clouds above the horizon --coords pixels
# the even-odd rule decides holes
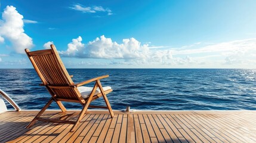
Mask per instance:
[[[256,68],[256,1],[1,0],[0,68]]]

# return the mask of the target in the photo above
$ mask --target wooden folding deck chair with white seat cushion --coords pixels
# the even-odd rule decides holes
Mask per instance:
[[[51,94],[51,99],[42,108],[42,110],[39,111],[39,113],[29,123],[29,125],[26,126],[26,128],[30,128],[31,126],[33,126],[36,120],[42,120],[45,122],[74,124],[73,127],[70,129],[70,132],[73,132],[76,129],[76,126],[78,126],[81,119],[84,117],[88,107],[107,108],[111,117],[114,116],[112,108],[106,97],[106,94],[112,92],[112,89],[110,86],[103,87],[100,83],[100,79],[109,77],[108,75],[96,77],[94,79],[86,80],[84,82],[75,84],[73,83],[69,73],[67,73],[67,70],[64,67],[60,55],[58,55],[57,49],[54,45],[51,45],[51,49],[44,49],[32,52],[30,52],[29,49],[25,49],[25,51],[31,63],[33,64],[33,67],[38,73],[38,76],[42,80],[41,85],[45,86]],[[82,86],[90,82],[95,82],[93,88]],[[91,101],[101,96],[106,102],[106,107],[90,105]],[[60,107],[62,112],[65,112],[66,108],[61,103],[61,101],[81,103],[83,108],[76,122],[66,119],[61,120],[41,118],[40,116],[53,101],[57,102],[58,107]]]

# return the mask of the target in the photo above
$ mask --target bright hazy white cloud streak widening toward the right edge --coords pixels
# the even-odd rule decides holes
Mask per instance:
[[[175,49],[172,53],[174,57],[193,56],[196,63],[212,64],[218,68],[227,66],[255,68],[256,39],[211,43],[199,48]]]

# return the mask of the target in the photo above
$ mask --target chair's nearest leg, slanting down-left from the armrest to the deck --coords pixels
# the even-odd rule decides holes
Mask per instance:
[[[82,111],[81,111],[81,113],[80,113],[80,115],[79,115],[79,117],[78,117],[78,120],[76,120],[75,125],[73,125],[73,127],[70,129],[70,132],[73,132],[74,130],[76,130],[76,126],[78,126],[78,124],[80,123],[80,121],[81,121],[82,118],[84,117],[84,114],[85,114],[85,112],[87,111],[87,109],[88,109],[88,107],[89,107],[89,105],[90,105],[90,103],[91,103],[92,97],[93,97],[93,95],[94,95],[96,89],[97,89],[97,83],[95,83],[95,85],[94,85],[94,87],[93,87],[93,89],[92,89],[92,91],[91,91],[90,97],[88,98],[88,100],[87,100],[87,102],[86,102],[84,108],[82,109]]]

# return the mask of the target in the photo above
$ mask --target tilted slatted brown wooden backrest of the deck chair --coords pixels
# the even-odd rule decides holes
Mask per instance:
[[[69,88],[74,83],[54,45],[51,45],[51,49],[32,52],[25,49],[25,51],[38,76],[56,100],[85,102],[77,88]],[[66,86],[67,88],[50,88],[49,86]]]

